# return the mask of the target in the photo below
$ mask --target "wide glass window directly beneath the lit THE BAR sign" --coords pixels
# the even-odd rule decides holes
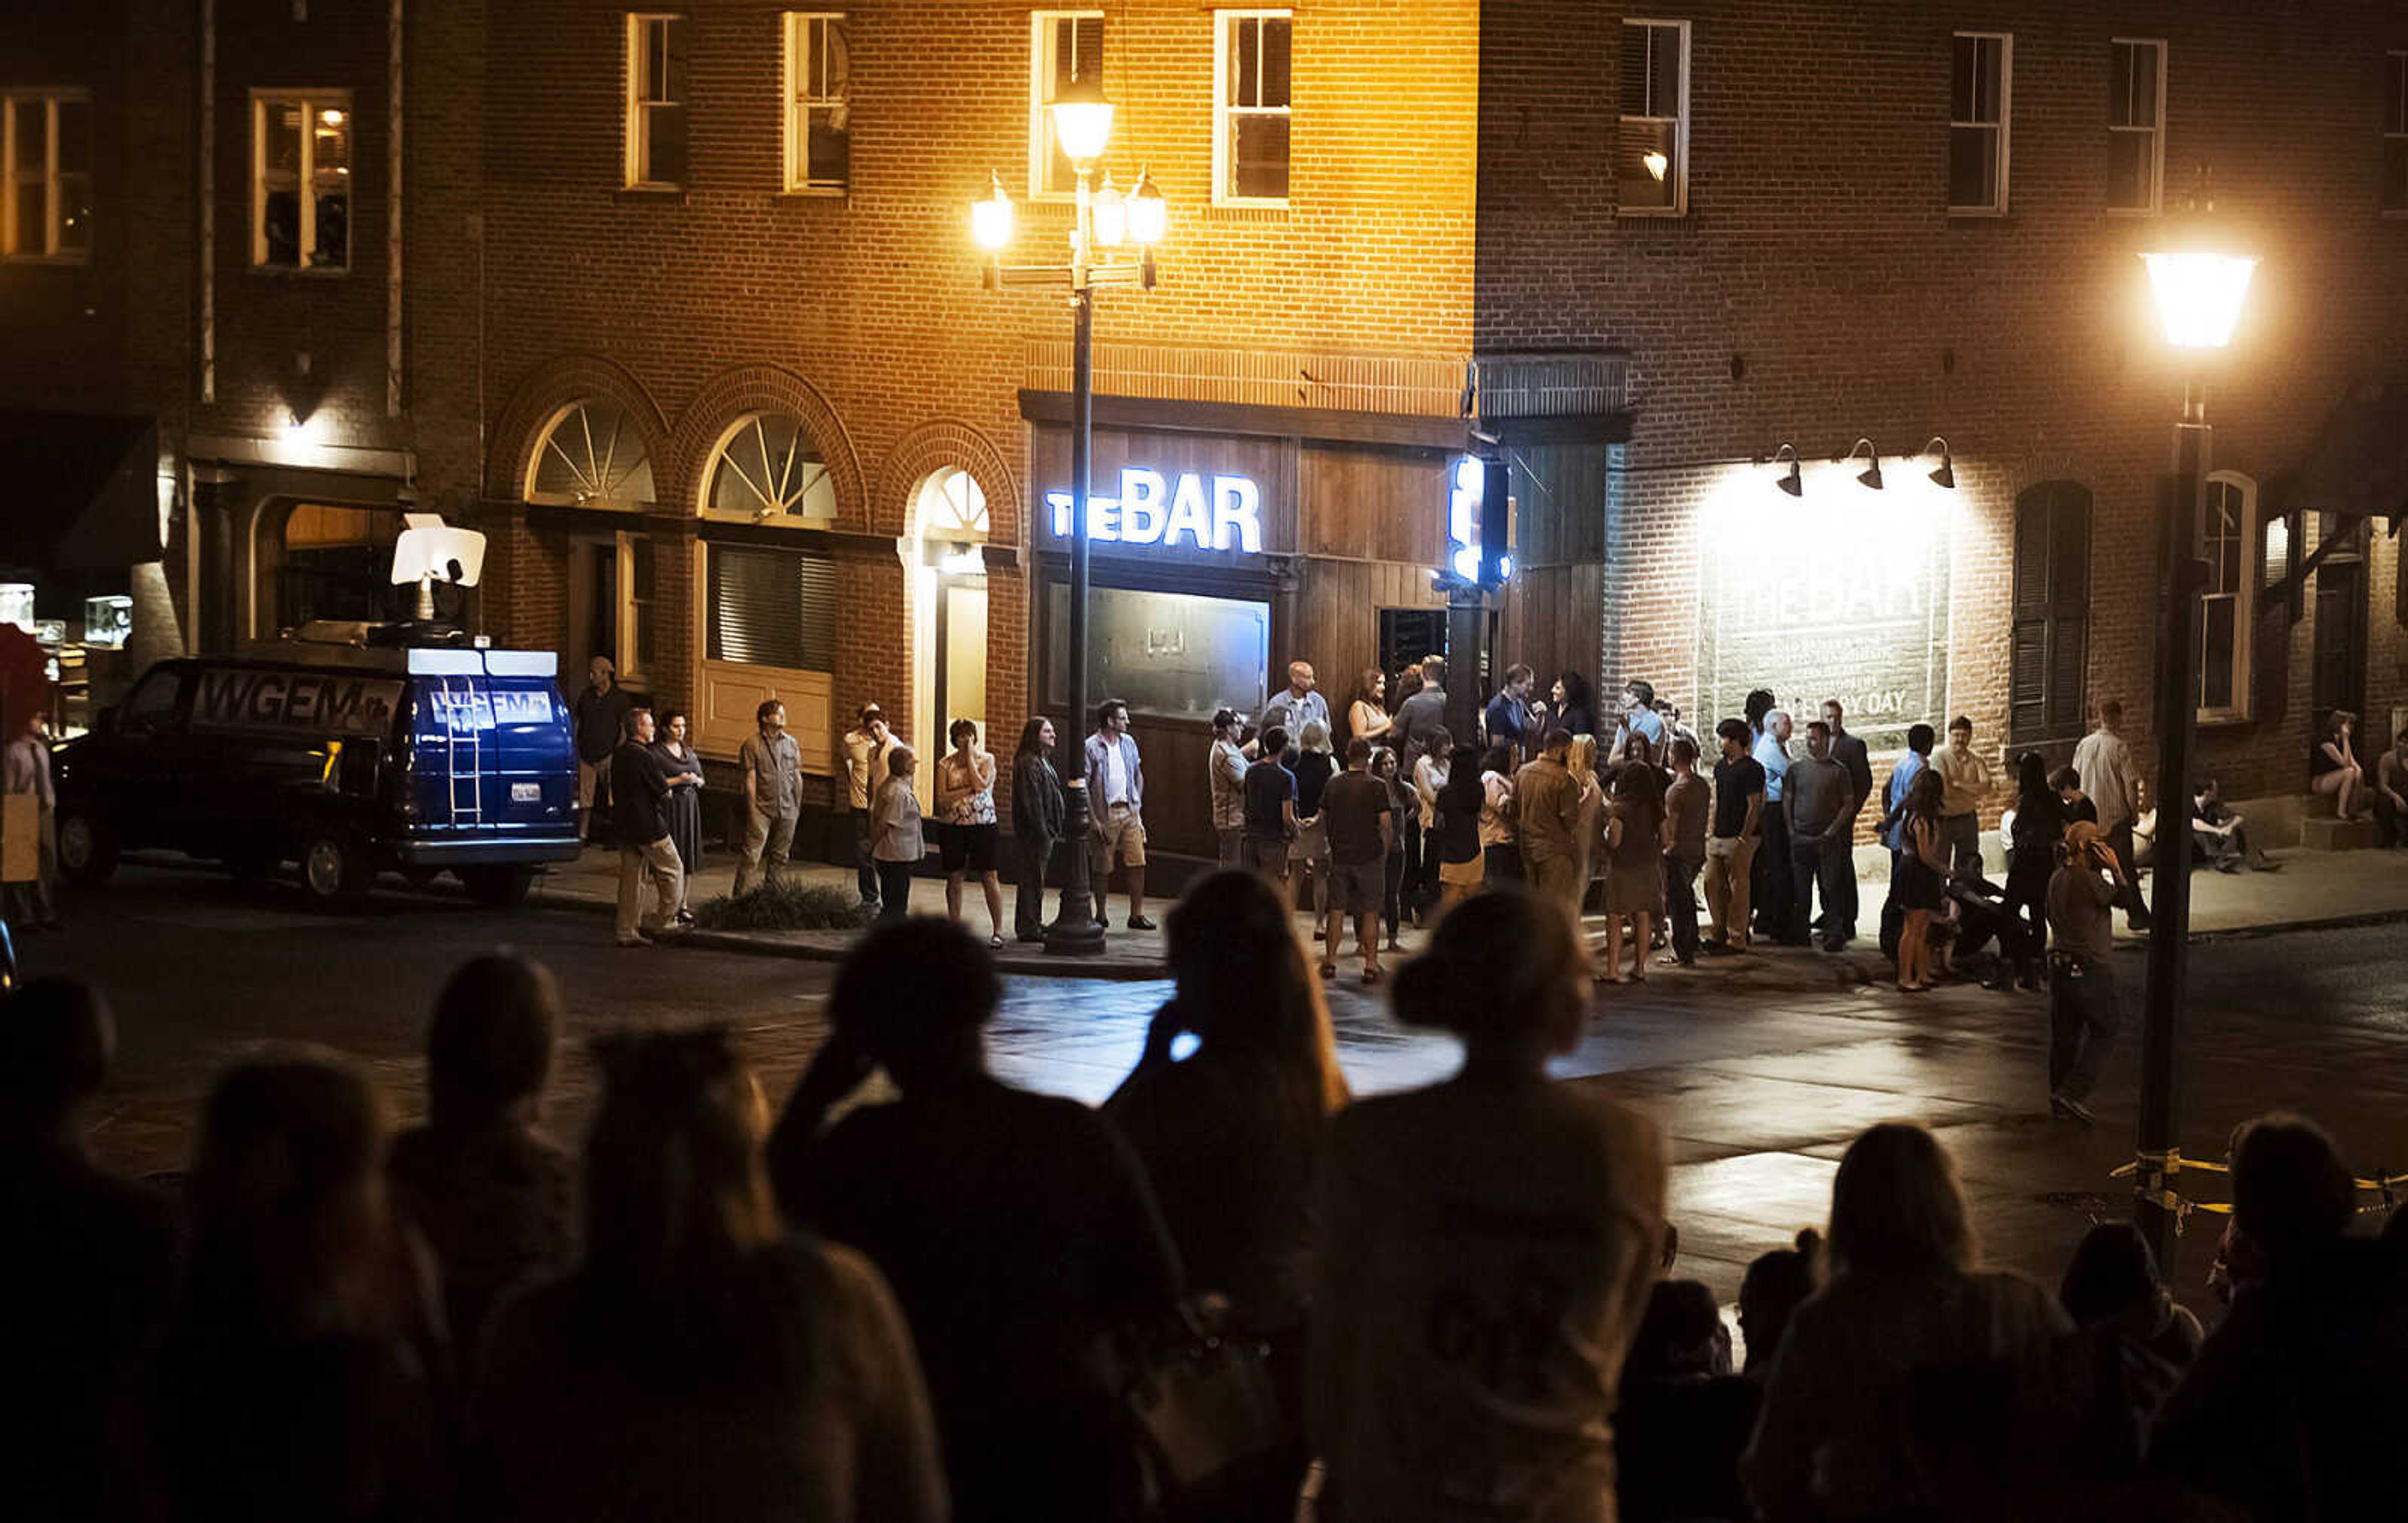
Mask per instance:
[[[1047,587],[1045,698],[1069,703],[1069,587]],[[1271,606],[1187,592],[1096,587],[1086,626],[1088,703],[1120,698],[1132,715],[1211,719],[1262,712]],[[1086,719],[1081,717],[1081,724]]]

